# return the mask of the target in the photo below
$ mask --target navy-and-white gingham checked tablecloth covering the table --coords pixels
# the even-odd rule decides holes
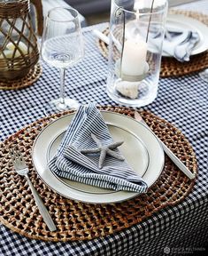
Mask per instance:
[[[195,11],[201,6],[208,13],[207,1],[199,3]],[[189,9],[194,6],[189,4]],[[105,27],[106,24],[99,24],[84,28],[85,58],[67,71],[66,94],[83,104],[96,101],[99,105],[116,106],[105,90],[107,60],[98,51],[91,33],[93,28]],[[1,140],[42,117],[44,104],[58,97],[58,70],[44,63],[42,69],[42,76],[32,86],[20,91],[0,91]],[[178,127],[196,152],[198,177],[184,201],[132,228],[91,241],[42,242],[19,236],[0,225],[0,255],[171,255],[180,250],[204,251],[208,241],[208,228],[204,225],[208,222],[207,86],[197,74],[160,79],[157,99],[143,108]]]

